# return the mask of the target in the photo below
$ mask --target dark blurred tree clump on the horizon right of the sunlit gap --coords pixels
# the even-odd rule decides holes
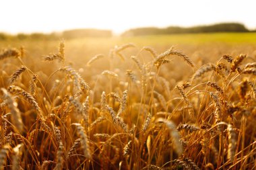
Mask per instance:
[[[243,25],[238,23],[214,24],[211,26],[194,26],[189,28],[170,26],[168,28],[135,28],[124,32],[122,36],[146,36],[157,34],[188,34],[208,32],[249,32]]]

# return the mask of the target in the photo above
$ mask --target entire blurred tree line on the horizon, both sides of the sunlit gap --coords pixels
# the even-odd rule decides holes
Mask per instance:
[[[190,28],[183,28],[177,26],[170,26],[168,28],[134,28],[127,30],[121,36],[146,36],[159,34],[187,34],[187,33],[207,33],[207,32],[256,32],[256,30],[248,30],[243,24],[238,23],[224,23],[214,24],[211,26],[194,26]],[[113,36],[110,30],[98,29],[75,29],[66,30],[59,33],[43,34],[16,34],[10,35],[0,33],[0,40],[60,40],[73,38],[88,38],[88,37],[111,37]]]

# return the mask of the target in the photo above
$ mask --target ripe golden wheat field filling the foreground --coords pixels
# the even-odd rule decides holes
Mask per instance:
[[[255,46],[91,43],[2,44],[0,169],[256,169]]]

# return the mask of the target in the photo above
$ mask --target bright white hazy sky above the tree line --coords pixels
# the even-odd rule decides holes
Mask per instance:
[[[0,32],[53,32],[100,28],[121,33],[146,26],[241,22],[256,28],[253,0],[2,0]]]

